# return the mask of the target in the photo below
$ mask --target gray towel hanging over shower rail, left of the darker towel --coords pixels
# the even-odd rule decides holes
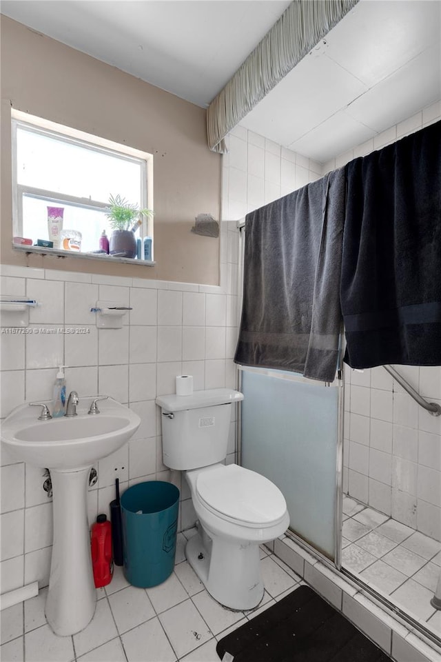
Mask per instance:
[[[343,169],[247,214],[236,363],[334,381],[344,216]]]

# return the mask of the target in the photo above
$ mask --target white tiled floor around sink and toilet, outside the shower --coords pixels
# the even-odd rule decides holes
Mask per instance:
[[[45,622],[47,589],[4,610],[1,660],[218,662],[218,639],[304,583],[283,561],[261,548],[263,601],[255,610],[232,612],[212,599],[185,561],[185,542],[185,536],[178,534],[174,572],[154,588],[134,588],[125,581],[121,568],[115,568],[112,582],[98,590],[91,623],[74,636],[55,636]]]

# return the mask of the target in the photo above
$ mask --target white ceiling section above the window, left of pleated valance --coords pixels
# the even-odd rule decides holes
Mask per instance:
[[[289,0],[1,0],[0,12],[206,108]]]

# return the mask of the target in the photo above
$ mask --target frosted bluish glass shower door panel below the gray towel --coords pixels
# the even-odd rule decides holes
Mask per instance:
[[[243,467],[283,492],[289,528],[340,566],[340,383],[241,368]]]

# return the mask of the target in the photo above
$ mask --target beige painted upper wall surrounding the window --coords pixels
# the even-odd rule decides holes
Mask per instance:
[[[219,242],[190,232],[220,218],[221,157],[207,147],[205,110],[1,17],[1,262],[189,283],[219,283]],[[10,111],[154,154],[156,266],[42,257],[12,249]]]

